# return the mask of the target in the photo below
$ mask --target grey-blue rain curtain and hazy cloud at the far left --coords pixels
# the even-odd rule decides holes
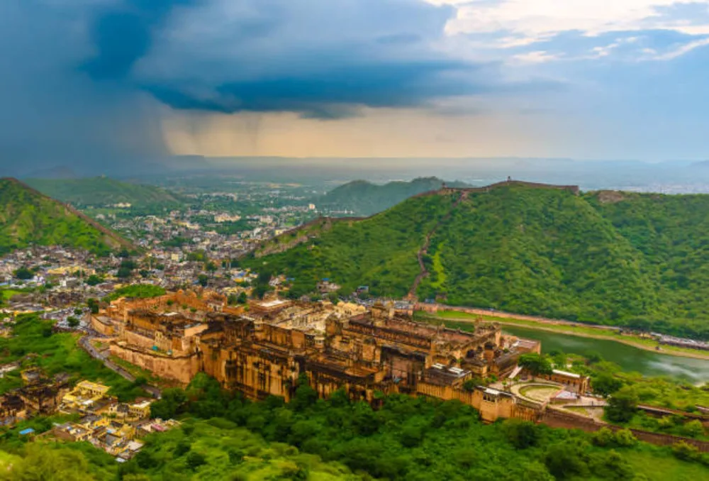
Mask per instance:
[[[60,165],[111,173],[167,154],[157,102],[77,72],[94,52],[89,23],[109,4],[0,1],[0,176]]]

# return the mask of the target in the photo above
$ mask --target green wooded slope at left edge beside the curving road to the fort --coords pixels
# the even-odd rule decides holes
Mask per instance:
[[[72,380],[91,380],[111,386],[111,394],[119,399],[133,399],[147,395],[140,385],[143,380],[129,382],[91,358],[77,345],[77,335],[52,333],[52,321],[35,314],[21,314],[13,326],[13,336],[0,338],[0,364],[21,362],[21,369],[6,373],[0,379],[0,394],[21,387],[21,370],[40,367],[52,377],[67,373]]]

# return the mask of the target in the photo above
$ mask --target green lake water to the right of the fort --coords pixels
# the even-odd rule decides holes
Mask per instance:
[[[503,326],[503,331],[514,336],[542,341],[544,353],[552,350],[580,355],[594,352],[601,354],[605,360],[618,364],[624,371],[640,372],[645,376],[673,377],[693,384],[709,382],[709,360],[681,358],[605,339],[582,338],[516,326]]]

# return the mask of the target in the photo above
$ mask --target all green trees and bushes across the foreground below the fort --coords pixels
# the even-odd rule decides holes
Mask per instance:
[[[629,431],[485,425],[459,402],[396,395],[372,409],[344,392],[322,400],[303,379],[289,404],[254,403],[198,375],[185,390],[165,389],[152,414],[182,426],[149,436],[123,465],[86,443],[27,443],[16,433],[24,424],[6,431],[0,467],[12,468],[0,479],[693,480],[709,463],[690,446],[658,448]],[[32,426],[42,432],[50,421]]]

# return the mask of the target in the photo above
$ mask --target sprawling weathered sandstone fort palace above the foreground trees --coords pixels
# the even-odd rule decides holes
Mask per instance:
[[[508,375],[520,354],[540,349],[497,324],[461,331],[383,304],[272,299],[237,310],[204,293],[119,299],[92,324],[113,336],[111,354],[123,360],[183,384],[206,372],[250,399],[287,401],[301,375],[321,397],[345,389],[370,402],[376,391],[460,390],[473,377]]]

